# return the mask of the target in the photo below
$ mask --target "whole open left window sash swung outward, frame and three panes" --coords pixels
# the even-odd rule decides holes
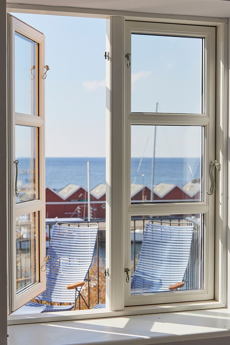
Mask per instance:
[[[45,38],[11,15],[8,22],[11,314],[46,289]]]

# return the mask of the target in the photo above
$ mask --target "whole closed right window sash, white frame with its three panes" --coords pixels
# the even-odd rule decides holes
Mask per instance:
[[[127,306],[214,296],[214,42],[214,28],[126,21]],[[138,218],[145,225],[134,250]]]

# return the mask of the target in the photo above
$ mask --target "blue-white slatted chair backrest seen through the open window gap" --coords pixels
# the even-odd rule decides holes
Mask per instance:
[[[53,226],[46,265],[46,290],[37,299],[74,303],[75,289],[67,285],[82,282],[92,263],[98,223]],[[77,293],[78,296],[78,293]]]

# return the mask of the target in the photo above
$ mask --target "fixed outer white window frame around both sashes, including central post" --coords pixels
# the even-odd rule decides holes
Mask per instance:
[[[113,16],[112,11],[103,10],[86,10],[82,13],[82,9],[77,8],[60,8],[55,6],[37,6],[26,4],[10,4],[8,5],[9,12],[24,12],[24,13],[36,13],[36,14],[58,14],[58,15],[70,15],[70,16],[87,16],[94,18],[107,18],[107,28],[109,28],[110,35],[107,37],[107,47],[110,47],[110,70],[111,79],[110,82],[106,82],[107,87],[110,86],[107,96],[110,95],[110,102],[107,101],[107,129],[110,124],[110,128],[107,131],[107,144],[110,143],[110,147],[107,146],[107,159],[111,162],[111,170],[114,170],[114,174],[109,171],[107,167],[107,183],[109,188],[107,190],[107,239],[106,246],[110,258],[106,260],[106,266],[110,268],[110,276],[107,278],[106,294],[107,294],[107,308],[108,309],[94,309],[90,311],[78,311],[69,312],[65,315],[63,313],[56,313],[56,315],[36,315],[36,319],[28,318],[30,315],[24,316],[9,316],[9,324],[18,323],[30,323],[30,322],[45,322],[45,321],[60,321],[70,319],[83,319],[83,318],[97,318],[108,316],[120,316],[120,315],[136,315],[136,314],[148,314],[167,311],[182,311],[182,310],[195,310],[201,308],[217,308],[226,306],[226,282],[221,275],[222,272],[226,272],[226,226],[227,226],[227,21],[220,18],[208,18],[208,17],[184,17],[184,16],[167,16],[156,14],[138,14],[135,12],[120,12],[120,16]],[[45,12],[44,12],[45,11]],[[120,190],[123,188],[123,170],[122,170],[122,157],[123,157],[123,137],[121,142],[117,142],[116,138],[118,132],[123,128],[123,113],[124,113],[124,96],[123,92],[114,93],[115,86],[118,84],[120,88],[124,90],[124,20],[136,20],[136,21],[150,21],[150,22],[162,22],[162,23],[181,23],[181,24],[196,24],[196,25],[208,25],[217,28],[217,93],[220,94],[220,101],[216,103],[216,121],[221,124],[221,131],[217,130],[217,154],[221,151],[222,173],[219,175],[219,181],[217,183],[217,193],[220,197],[217,201],[217,207],[220,209],[221,217],[216,220],[218,229],[216,231],[216,260],[215,260],[215,290],[213,300],[189,302],[189,303],[167,303],[163,305],[149,305],[139,307],[124,307],[124,289],[122,288],[121,281],[124,279],[122,272],[124,268],[124,250],[123,248],[123,201],[116,203],[119,198]],[[108,31],[107,31],[108,32]],[[111,45],[111,46],[110,46]],[[114,54],[113,54],[114,52]],[[221,66],[222,64],[222,66]],[[117,71],[119,73],[117,73]],[[120,77],[117,75],[119,74]],[[114,101],[116,99],[116,103]],[[108,97],[107,97],[108,100]],[[119,111],[119,112],[118,112]],[[117,133],[117,134],[116,134]],[[114,155],[114,145],[116,146],[117,155]],[[118,151],[120,150],[119,154]],[[218,151],[219,150],[219,151]],[[115,152],[115,153],[116,153]],[[116,173],[121,174],[122,180],[116,179]],[[220,182],[220,184],[219,184]],[[219,186],[226,186],[223,190]],[[118,187],[118,191],[117,188]],[[123,189],[122,189],[123,190]],[[223,193],[222,193],[223,191]],[[123,195],[123,194],[122,194]],[[219,205],[221,201],[221,207]],[[116,207],[114,207],[114,203]],[[116,228],[116,225],[122,224],[122,228]],[[108,226],[110,229],[108,229]],[[110,230],[110,231],[109,231]],[[122,236],[121,236],[122,235]],[[121,236],[121,237],[120,237]],[[115,242],[114,242],[115,240]],[[115,245],[113,245],[115,243]],[[116,251],[118,249],[118,252]],[[114,262],[110,262],[110,259],[114,254],[118,254],[119,262],[114,265]],[[120,256],[119,256],[120,255]],[[122,263],[122,266],[121,266]],[[113,269],[114,268],[114,269]],[[225,271],[224,271],[225,269]],[[227,279],[227,278],[226,278]],[[117,289],[118,287],[118,289]],[[109,302],[109,305],[108,305]],[[116,312],[117,311],[117,312]],[[32,316],[32,315],[31,315]],[[34,317],[34,315],[33,315]]]

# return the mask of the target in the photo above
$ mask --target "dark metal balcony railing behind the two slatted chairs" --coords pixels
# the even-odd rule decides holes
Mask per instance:
[[[178,225],[184,224],[184,220],[191,221],[194,225],[193,239],[190,250],[190,258],[184,280],[187,282],[184,284],[182,289],[200,289],[202,288],[203,281],[203,236],[200,229],[200,222],[196,219],[189,217],[163,217],[163,218],[151,218],[151,217],[132,217],[131,219],[131,272],[133,273],[137,267],[137,263],[140,256],[140,249],[142,244],[142,237],[146,223],[150,220],[157,221],[161,224],[173,224],[177,222]],[[68,223],[70,218],[68,218]],[[95,220],[92,222],[95,222]],[[91,267],[89,269],[88,277],[91,281],[82,287],[81,293],[83,297],[88,302],[90,308],[93,308],[96,304],[105,303],[105,277],[104,277],[104,267],[105,267],[105,219],[97,220],[99,224],[99,231],[97,235],[97,242],[94,249],[93,260]],[[56,221],[46,222],[46,244],[47,249],[49,247],[49,240],[52,234],[52,227]],[[74,223],[74,221],[73,221]],[[87,221],[84,221],[87,223]],[[64,222],[63,222],[64,224]],[[19,229],[20,232],[20,229]],[[18,238],[17,241],[17,260],[19,260],[20,267],[19,274],[17,275],[17,287],[20,288],[20,282],[24,279],[29,279],[28,268],[31,264],[27,262],[30,260],[29,256],[23,256],[23,253],[30,251],[30,239],[29,238]],[[23,267],[25,269],[23,269]],[[86,305],[83,303],[82,299],[78,298],[76,309],[84,309]]]

